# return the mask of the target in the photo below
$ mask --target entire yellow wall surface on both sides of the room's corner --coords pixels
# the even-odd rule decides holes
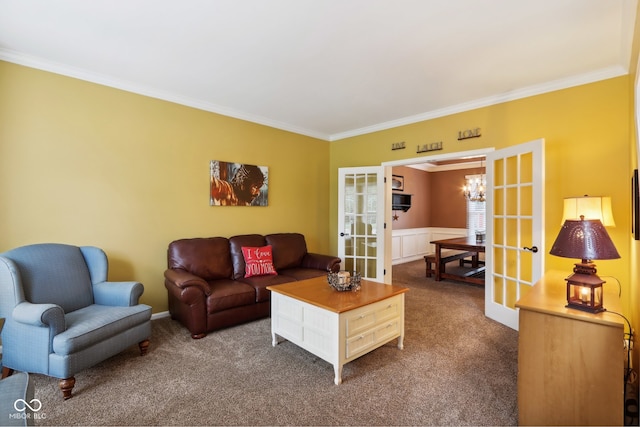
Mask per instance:
[[[546,139],[546,248],[562,199],[609,195],[623,305],[631,279],[629,77],[556,91],[333,143],[0,62],[0,251],[35,242],[104,248],[111,280],[140,280],[167,309],[162,273],[177,238],[298,231],[309,249],[337,248],[337,169]],[[457,141],[480,127],[482,137]],[[406,150],[391,150],[405,141]],[[416,154],[421,144],[444,150]],[[209,160],[269,167],[268,207],[210,207]],[[547,268],[571,260],[546,256]],[[633,288],[633,289],[631,289]],[[606,304],[605,304],[606,305]],[[637,311],[637,304],[634,310]],[[635,315],[637,318],[637,314]]]

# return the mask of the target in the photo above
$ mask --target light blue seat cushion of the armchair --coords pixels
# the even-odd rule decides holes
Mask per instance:
[[[92,304],[65,315],[66,330],[53,337],[53,351],[59,355],[76,353],[121,334],[151,319],[151,307],[112,307]]]

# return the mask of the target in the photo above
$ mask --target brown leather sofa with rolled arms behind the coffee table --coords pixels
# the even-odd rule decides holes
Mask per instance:
[[[277,275],[245,278],[243,247],[271,245]],[[271,314],[266,287],[326,275],[340,258],[307,252],[302,234],[246,234],[180,239],[169,244],[164,285],[171,318],[194,339]],[[327,285],[328,286],[328,285]]]

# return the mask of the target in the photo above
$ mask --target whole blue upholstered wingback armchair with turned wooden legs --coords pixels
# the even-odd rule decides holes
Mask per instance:
[[[92,246],[44,243],[0,254],[2,377],[14,370],[60,378],[64,399],[74,375],[151,336],[151,307],[138,282],[107,282],[107,256]]]

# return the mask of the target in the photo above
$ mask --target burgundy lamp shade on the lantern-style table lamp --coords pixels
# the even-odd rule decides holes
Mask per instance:
[[[620,258],[599,219],[566,220],[549,253],[564,258],[578,258],[583,262]]]

